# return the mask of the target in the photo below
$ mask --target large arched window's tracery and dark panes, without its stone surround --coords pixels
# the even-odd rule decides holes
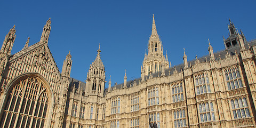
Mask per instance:
[[[14,83],[7,95],[0,127],[44,127],[49,95],[38,77]]]

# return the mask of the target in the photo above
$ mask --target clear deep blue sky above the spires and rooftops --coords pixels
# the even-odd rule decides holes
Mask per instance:
[[[0,42],[16,25],[12,54],[40,40],[43,26],[51,18],[49,47],[59,67],[71,51],[71,77],[86,80],[89,66],[101,44],[106,81],[123,83],[140,77],[140,67],[151,34],[152,14],[172,66],[225,49],[228,18],[242,29],[247,41],[256,38],[255,1],[0,1]],[[164,52],[165,54],[165,52]],[[106,83],[106,86],[108,84]]]

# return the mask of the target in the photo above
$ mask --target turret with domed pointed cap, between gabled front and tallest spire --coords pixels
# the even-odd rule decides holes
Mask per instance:
[[[87,74],[86,95],[98,95],[103,97],[105,86],[105,67],[100,59],[100,46],[97,57],[90,65]]]

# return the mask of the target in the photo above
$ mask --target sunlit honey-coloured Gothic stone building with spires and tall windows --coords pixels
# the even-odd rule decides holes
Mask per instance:
[[[15,26],[0,51],[0,127],[256,127],[256,42],[229,21],[226,50],[172,67],[153,16],[141,77],[105,89],[97,57],[86,83],[70,77],[70,52],[60,72],[48,47],[50,19],[39,42],[11,54]]]

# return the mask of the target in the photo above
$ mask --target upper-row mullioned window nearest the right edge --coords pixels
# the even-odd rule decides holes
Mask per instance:
[[[243,87],[241,75],[238,68],[231,68],[225,70],[226,81],[228,85],[228,90],[237,89]]]

